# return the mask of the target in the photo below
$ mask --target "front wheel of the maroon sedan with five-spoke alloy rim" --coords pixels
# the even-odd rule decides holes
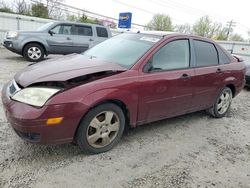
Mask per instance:
[[[91,109],[80,123],[76,141],[86,153],[102,153],[112,149],[122,137],[125,116],[122,109],[112,103]]]

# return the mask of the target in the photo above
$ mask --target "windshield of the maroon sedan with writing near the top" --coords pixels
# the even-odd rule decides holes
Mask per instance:
[[[96,45],[84,54],[131,68],[160,39],[160,36],[124,33]]]

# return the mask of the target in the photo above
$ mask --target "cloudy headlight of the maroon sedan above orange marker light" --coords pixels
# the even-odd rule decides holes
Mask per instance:
[[[12,99],[32,106],[42,107],[58,91],[60,89],[30,87],[18,91],[12,96]]]

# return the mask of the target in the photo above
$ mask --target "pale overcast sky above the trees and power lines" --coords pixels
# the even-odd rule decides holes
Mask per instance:
[[[147,24],[154,14],[164,13],[173,24],[194,24],[208,15],[226,26],[236,22],[234,32],[248,38],[250,31],[250,3],[248,0],[65,0],[65,4],[117,18],[120,12],[132,12],[132,22]]]

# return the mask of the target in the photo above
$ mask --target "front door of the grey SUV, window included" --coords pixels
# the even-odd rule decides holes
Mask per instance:
[[[47,37],[49,53],[69,54],[73,53],[72,24],[59,24],[50,30]]]

